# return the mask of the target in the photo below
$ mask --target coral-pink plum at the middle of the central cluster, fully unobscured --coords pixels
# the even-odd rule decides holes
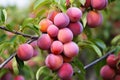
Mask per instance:
[[[58,40],[62,43],[67,43],[72,41],[73,33],[69,28],[60,29],[58,32]]]

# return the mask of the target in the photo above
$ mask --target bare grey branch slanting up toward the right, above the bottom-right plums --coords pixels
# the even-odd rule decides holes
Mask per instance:
[[[88,69],[90,67],[92,67],[93,65],[97,64],[98,62],[102,61],[103,59],[105,59],[107,56],[109,56],[110,54],[112,54],[116,49],[113,49],[109,52],[107,52],[105,55],[103,55],[101,58],[96,59],[95,61],[91,62],[90,64],[84,66],[84,69]],[[78,73],[81,73],[81,71],[79,70]]]

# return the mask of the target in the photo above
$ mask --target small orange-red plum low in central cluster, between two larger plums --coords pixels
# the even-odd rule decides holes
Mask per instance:
[[[54,41],[51,44],[51,52],[56,55],[62,53],[63,52],[63,43],[60,41]]]

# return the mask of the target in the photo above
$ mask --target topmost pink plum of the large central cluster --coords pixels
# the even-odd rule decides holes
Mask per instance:
[[[82,11],[77,7],[69,8],[66,13],[69,16],[71,22],[79,21],[82,17]]]

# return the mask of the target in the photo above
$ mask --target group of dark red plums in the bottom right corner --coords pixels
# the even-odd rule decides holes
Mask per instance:
[[[100,70],[103,80],[120,80],[120,55],[111,54],[106,59],[106,65]]]

